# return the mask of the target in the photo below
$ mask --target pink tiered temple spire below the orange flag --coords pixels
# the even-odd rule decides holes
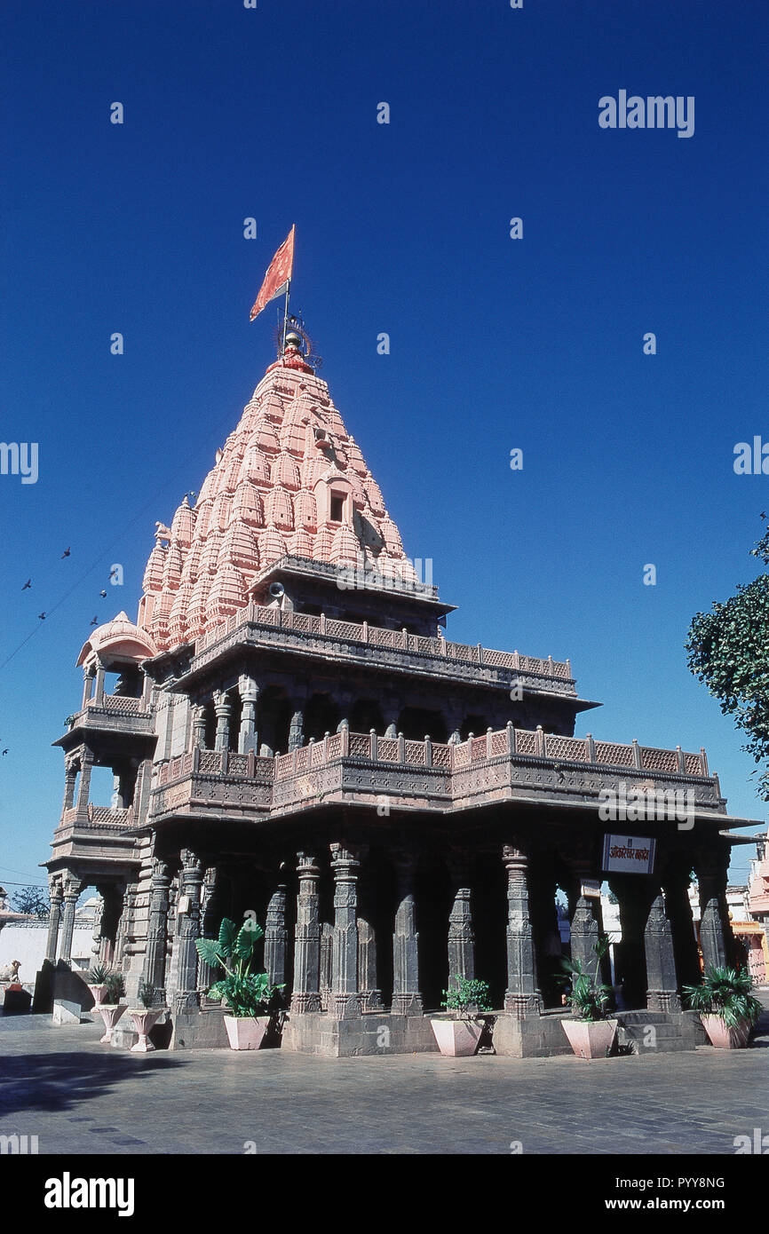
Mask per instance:
[[[268,368],[195,506],[184,497],[170,527],[157,524],[138,624],[159,652],[191,642],[244,607],[254,580],[286,554],[375,561],[416,581],[328,386],[295,347]]]

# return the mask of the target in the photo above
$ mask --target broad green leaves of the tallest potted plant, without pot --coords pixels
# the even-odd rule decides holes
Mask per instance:
[[[267,972],[253,972],[257,945],[264,938],[264,930],[257,922],[246,922],[239,929],[237,923],[225,917],[218,938],[199,938],[195,940],[197,954],[212,969],[223,969],[209,988],[210,998],[222,998],[232,1014],[243,1018],[264,1014],[270,1003],[284,987],[270,985]]]

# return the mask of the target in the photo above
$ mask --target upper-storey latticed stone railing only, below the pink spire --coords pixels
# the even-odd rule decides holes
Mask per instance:
[[[506,669],[510,673],[533,674],[564,682],[573,681],[569,660],[554,660],[552,656],[543,660],[534,655],[520,655],[518,652],[494,652],[481,647],[480,643],[449,643],[446,638],[410,634],[405,629],[385,629],[381,626],[369,626],[368,622],[358,624],[336,621],[325,613],[315,617],[311,613],[284,611],[265,605],[249,605],[201,634],[195,645],[196,658],[220,639],[248,624],[268,626],[316,638],[342,639],[347,643],[432,656],[449,663]]]

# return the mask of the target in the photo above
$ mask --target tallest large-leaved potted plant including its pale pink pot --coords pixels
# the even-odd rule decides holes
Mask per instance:
[[[218,938],[195,940],[201,960],[212,969],[223,969],[223,976],[210,986],[210,998],[221,998],[231,1011],[225,1016],[230,1048],[258,1050],[269,1027],[270,1004],[284,987],[272,986],[267,972],[253,972],[257,945],[264,930],[257,922],[246,922],[238,929],[228,917],[221,923]]]

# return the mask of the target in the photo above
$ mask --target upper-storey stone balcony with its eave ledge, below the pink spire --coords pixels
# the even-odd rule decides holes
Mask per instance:
[[[290,610],[249,605],[226,621],[214,626],[195,644],[190,671],[177,689],[188,690],[190,679],[221,661],[230,652],[243,645],[294,652],[301,655],[348,663],[407,670],[415,675],[439,675],[453,680],[504,685],[521,682],[537,694],[558,695],[576,700],[569,660],[559,661],[520,655],[518,652],[495,652],[444,638],[428,638],[407,631],[385,629],[368,622],[336,621]],[[578,702],[575,711],[597,706]]]

